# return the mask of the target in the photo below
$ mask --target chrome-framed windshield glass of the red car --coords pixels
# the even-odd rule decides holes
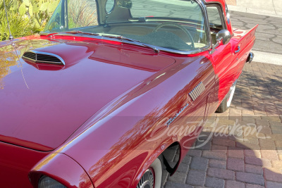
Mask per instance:
[[[209,46],[202,6],[194,0],[61,0],[44,32],[121,36],[176,51]]]

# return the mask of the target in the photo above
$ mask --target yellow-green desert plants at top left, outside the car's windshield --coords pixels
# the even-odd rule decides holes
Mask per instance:
[[[5,0],[13,37],[32,35],[43,30],[59,0]],[[0,41],[8,39],[4,3],[0,0]]]

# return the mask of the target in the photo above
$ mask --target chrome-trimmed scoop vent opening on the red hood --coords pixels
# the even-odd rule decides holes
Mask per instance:
[[[55,65],[66,65],[60,56],[42,51],[27,51],[23,54],[23,59],[35,63],[49,63]]]

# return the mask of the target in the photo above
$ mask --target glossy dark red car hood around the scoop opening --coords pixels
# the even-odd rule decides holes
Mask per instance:
[[[175,62],[152,49],[128,46],[39,36],[2,43],[0,141],[51,151],[103,106]],[[28,50],[56,54],[65,65],[24,61]]]

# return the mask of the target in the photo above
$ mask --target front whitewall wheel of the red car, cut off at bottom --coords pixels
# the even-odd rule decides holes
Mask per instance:
[[[136,188],[160,188],[162,173],[161,160],[156,158],[156,160],[145,171],[144,175],[142,175]]]

